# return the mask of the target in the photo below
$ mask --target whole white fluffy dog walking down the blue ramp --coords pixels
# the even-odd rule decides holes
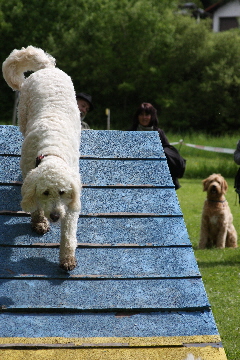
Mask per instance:
[[[34,72],[25,79],[25,71]],[[81,190],[81,122],[72,81],[55,68],[52,56],[33,46],[14,50],[3,63],[3,76],[20,90],[22,209],[31,213],[39,234],[49,230],[48,219],[61,220],[60,267],[72,270]]]

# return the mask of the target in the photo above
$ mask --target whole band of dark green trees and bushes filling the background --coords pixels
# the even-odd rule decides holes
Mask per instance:
[[[0,0],[0,56],[33,45],[92,94],[92,128],[128,129],[142,101],[166,131],[221,133],[240,123],[240,33],[180,15],[169,0]],[[1,121],[14,94],[0,83]]]

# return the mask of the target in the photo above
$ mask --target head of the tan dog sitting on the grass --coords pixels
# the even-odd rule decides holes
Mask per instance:
[[[226,194],[228,185],[220,174],[212,174],[203,180],[203,191],[207,191],[208,198],[218,199]]]

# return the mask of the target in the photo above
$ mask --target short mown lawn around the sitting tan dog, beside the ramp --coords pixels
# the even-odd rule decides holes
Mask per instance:
[[[209,173],[210,175],[210,173]],[[240,234],[240,206],[236,204],[233,178],[226,179],[226,194],[233,213],[234,225]],[[206,193],[200,179],[181,179],[177,191],[195,257],[203,277],[228,360],[240,359],[240,248],[198,250],[200,222]]]

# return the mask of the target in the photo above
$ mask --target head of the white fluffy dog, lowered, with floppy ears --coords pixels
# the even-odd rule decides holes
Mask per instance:
[[[67,210],[80,211],[80,179],[69,172],[51,166],[31,170],[22,185],[22,209],[43,210],[53,222],[65,216]]]

